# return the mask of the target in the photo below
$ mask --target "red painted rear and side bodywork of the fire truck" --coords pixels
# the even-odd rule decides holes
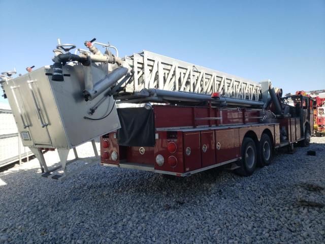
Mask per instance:
[[[262,133],[268,129],[275,145],[280,143],[278,124],[258,124],[261,110],[258,109],[220,109],[211,107],[154,107],[155,145],[153,147],[119,146],[116,132],[102,137],[109,141],[108,148],[103,148],[101,154],[107,151],[110,156],[113,151],[118,154],[118,160],[111,157],[102,159],[102,164],[136,163],[151,165],[158,172],[186,173],[211,165],[218,165],[241,157],[241,143],[247,132],[256,135],[259,141]],[[294,132],[296,140],[296,120],[290,126],[290,118],[279,119],[281,126]],[[248,124],[248,125],[247,125]],[[226,125],[226,126],[225,126]],[[290,134],[291,135],[291,134]],[[168,143],[176,144],[176,151],[168,150]],[[186,148],[190,155],[186,155]],[[144,150],[143,150],[144,149]],[[142,153],[140,153],[140,151]],[[156,157],[163,156],[164,164],[159,166]],[[159,156],[160,157],[160,156]],[[173,167],[169,158],[177,160]],[[172,162],[172,161],[171,161]]]

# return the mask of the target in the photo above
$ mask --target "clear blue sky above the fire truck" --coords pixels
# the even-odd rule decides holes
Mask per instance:
[[[120,55],[146,49],[284,93],[325,89],[325,0],[0,0],[0,13],[0,71],[51,64],[58,37],[95,37]]]

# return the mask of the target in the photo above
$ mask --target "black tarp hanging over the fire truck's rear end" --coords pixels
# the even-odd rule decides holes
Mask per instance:
[[[152,109],[118,108],[121,129],[117,131],[120,146],[154,146],[155,129]]]

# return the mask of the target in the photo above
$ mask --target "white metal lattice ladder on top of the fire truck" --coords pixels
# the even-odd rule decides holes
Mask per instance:
[[[259,83],[171,57],[144,51],[142,55],[134,54],[126,60],[138,71],[135,90],[157,88],[202,94],[219,92],[221,96],[252,101],[261,98]],[[139,79],[141,75],[143,78]]]

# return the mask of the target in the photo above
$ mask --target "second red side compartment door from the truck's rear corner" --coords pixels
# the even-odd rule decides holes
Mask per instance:
[[[201,159],[202,167],[216,163],[214,131],[201,131]]]

